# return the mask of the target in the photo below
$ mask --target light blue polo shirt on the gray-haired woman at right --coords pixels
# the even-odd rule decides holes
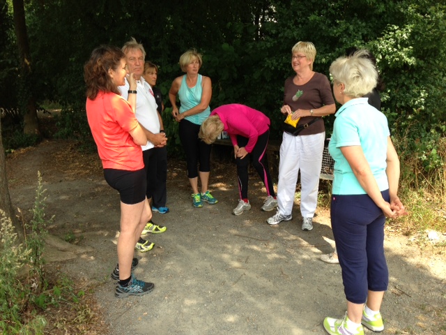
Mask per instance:
[[[328,151],[334,159],[332,194],[366,194],[357,181],[341,147],[360,145],[369,162],[380,191],[389,188],[387,181],[387,137],[390,136],[387,118],[367,103],[367,98],[356,98],[339,108],[334,120]]]

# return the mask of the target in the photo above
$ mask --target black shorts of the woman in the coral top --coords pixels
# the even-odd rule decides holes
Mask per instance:
[[[121,196],[124,204],[139,204],[146,199],[146,170],[104,169],[105,181]]]

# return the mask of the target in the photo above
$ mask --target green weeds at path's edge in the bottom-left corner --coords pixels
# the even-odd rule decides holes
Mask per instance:
[[[43,258],[47,223],[45,193],[38,173],[33,217],[22,223],[24,241],[18,241],[13,223],[0,210],[0,333],[43,334],[47,320],[43,311],[61,303],[77,304],[84,292],[75,293],[69,278],[59,276],[49,282],[45,278]],[[19,210],[20,211],[20,210]]]

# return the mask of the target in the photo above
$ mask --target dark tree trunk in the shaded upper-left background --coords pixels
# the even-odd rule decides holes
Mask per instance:
[[[36,98],[33,94],[31,54],[29,52],[28,33],[26,31],[25,9],[23,0],[13,0],[14,26],[19,48],[21,96],[20,107],[24,110],[24,133],[40,135]]]

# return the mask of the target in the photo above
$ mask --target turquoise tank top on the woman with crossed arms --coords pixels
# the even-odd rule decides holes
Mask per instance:
[[[183,80],[181,81],[181,86],[178,91],[178,98],[180,98],[180,113],[186,112],[191,108],[197,106],[201,101],[201,94],[203,93],[203,87],[201,87],[201,75],[198,75],[197,84],[192,87],[187,87],[186,75],[183,75]],[[201,125],[204,120],[208,118],[210,114],[210,107],[208,106],[206,110],[199,114],[191,115],[190,117],[185,117],[187,121],[192,122],[192,124]]]

